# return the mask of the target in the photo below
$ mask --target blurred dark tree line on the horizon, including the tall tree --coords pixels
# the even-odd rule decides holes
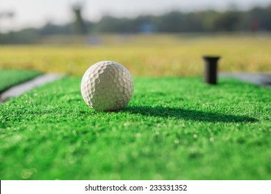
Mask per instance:
[[[74,0],[76,1],[76,0]],[[91,32],[103,33],[182,33],[215,31],[271,31],[271,5],[250,10],[237,10],[234,6],[225,12],[204,10],[195,12],[167,12],[163,15],[140,15],[136,18],[117,18],[105,15],[100,21],[84,21],[83,2],[72,5],[74,21],[65,25],[48,23],[40,29],[28,28],[6,34],[0,33],[1,43],[35,43],[42,35],[72,35],[74,28],[81,35]],[[0,12],[0,19],[11,19],[13,12]],[[1,27],[1,26],[0,26]]]

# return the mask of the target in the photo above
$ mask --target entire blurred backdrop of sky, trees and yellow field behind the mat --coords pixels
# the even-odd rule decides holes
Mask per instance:
[[[270,72],[270,31],[270,0],[1,1],[0,68],[81,75],[116,60],[136,76],[186,76],[208,54],[222,71]]]

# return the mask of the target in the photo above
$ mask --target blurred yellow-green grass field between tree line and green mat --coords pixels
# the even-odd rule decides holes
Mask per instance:
[[[112,60],[123,64],[132,76],[202,76],[202,55],[220,55],[220,71],[271,72],[270,34],[101,35],[95,38],[101,44],[53,45],[51,38],[44,39],[48,44],[0,46],[0,69],[83,76],[91,64]]]

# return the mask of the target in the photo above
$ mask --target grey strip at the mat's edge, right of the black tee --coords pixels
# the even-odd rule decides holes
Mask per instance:
[[[236,78],[271,88],[271,73],[219,73],[219,78]]]

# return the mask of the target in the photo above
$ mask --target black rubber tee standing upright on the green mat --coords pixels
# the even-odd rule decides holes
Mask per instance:
[[[205,60],[204,81],[211,85],[217,84],[217,61],[219,56],[203,56]]]

